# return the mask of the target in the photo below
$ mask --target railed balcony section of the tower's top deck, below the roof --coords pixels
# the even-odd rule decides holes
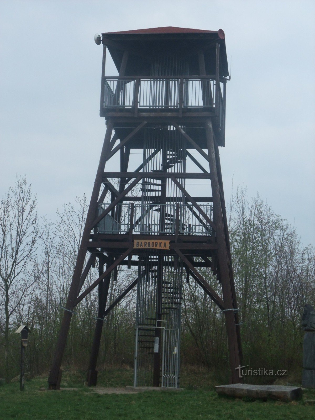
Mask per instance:
[[[221,87],[223,84],[223,87]],[[105,77],[100,115],[114,118],[175,118],[183,124],[213,117],[220,144],[225,138],[226,84],[217,76]],[[130,121],[130,120],[129,120]]]

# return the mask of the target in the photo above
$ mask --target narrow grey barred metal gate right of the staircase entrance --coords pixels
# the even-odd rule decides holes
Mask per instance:
[[[161,386],[178,388],[179,328],[163,329]]]

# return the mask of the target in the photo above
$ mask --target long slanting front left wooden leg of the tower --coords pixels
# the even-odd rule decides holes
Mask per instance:
[[[55,350],[55,355],[53,359],[53,364],[50,369],[48,376],[48,389],[59,389],[60,383],[58,381],[59,370],[63,358],[63,353],[66,347],[66,341],[68,336],[68,331],[70,327],[70,322],[72,318],[72,310],[74,308],[74,300],[78,296],[79,283],[81,278],[81,273],[84,265],[85,256],[87,253],[87,244],[89,241],[89,235],[91,233],[91,224],[95,218],[95,212],[97,209],[97,200],[100,193],[100,187],[102,184],[102,174],[105,169],[106,162],[106,151],[110,143],[110,138],[113,132],[113,120],[109,120],[107,123],[107,129],[105,134],[105,139],[103,142],[102,152],[100,156],[100,162],[97,168],[97,173],[95,177],[94,187],[92,191],[92,196],[89,204],[89,210],[87,212],[87,220],[85,222],[85,227],[81,239],[81,245],[78,252],[78,257],[76,260],[76,266],[74,268],[74,275],[72,278],[68,300],[66,303],[66,310],[64,311],[63,320],[61,322],[61,328],[58,336],[57,346]]]

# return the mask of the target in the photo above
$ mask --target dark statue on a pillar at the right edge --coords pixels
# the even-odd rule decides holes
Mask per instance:
[[[315,388],[315,310],[312,305],[304,305],[302,315],[304,327],[302,386]]]

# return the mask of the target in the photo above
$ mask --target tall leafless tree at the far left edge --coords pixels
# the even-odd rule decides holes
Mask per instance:
[[[36,195],[25,176],[17,177],[0,204],[0,329],[4,334],[6,381],[11,317],[37,280],[32,269],[39,237],[36,205]]]

